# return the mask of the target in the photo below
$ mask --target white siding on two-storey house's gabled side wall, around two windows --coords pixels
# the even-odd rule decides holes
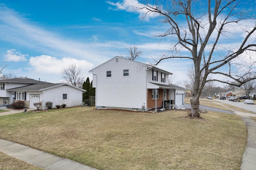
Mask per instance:
[[[124,68],[128,68],[129,76],[124,76]],[[110,69],[111,79],[106,77],[106,70]],[[96,106],[132,109],[146,103],[146,70],[141,63],[123,58],[116,62],[114,58],[96,67],[93,74]]]

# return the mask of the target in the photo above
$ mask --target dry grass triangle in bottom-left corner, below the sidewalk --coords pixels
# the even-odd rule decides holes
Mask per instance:
[[[43,170],[22,160],[0,152],[0,170]]]

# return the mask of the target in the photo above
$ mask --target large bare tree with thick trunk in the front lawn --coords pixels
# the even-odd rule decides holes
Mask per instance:
[[[250,57],[256,51],[253,40],[256,23],[253,20],[254,11],[248,7],[256,5],[255,1],[251,2],[254,4],[242,4],[240,0],[170,0],[165,3],[147,0],[136,7],[145,12],[143,18],[152,14],[160,17],[169,29],[159,36],[172,36],[172,40],[177,42],[168,53],[156,59],[156,65],[175,58],[189,59],[193,63],[195,77],[190,102],[191,117],[200,117],[199,97],[207,82],[219,81],[241,86],[256,79],[255,61]],[[249,16],[252,18],[250,21]],[[247,25],[243,22],[247,22]],[[253,26],[250,27],[248,23],[253,23]],[[222,43],[223,40],[234,38],[232,34],[236,31],[232,32],[230,28],[243,30],[243,36],[240,37],[240,44],[228,48]],[[184,49],[190,55],[185,55]],[[244,78],[248,73],[251,73],[251,77]],[[210,78],[211,75],[218,78]]]

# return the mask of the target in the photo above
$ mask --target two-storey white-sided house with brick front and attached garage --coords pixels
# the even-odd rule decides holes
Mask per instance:
[[[185,89],[168,82],[172,73],[145,63],[114,57],[89,73],[93,74],[97,109],[142,111],[142,106],[149,110],[166,102],[174,107],[184,104]]]

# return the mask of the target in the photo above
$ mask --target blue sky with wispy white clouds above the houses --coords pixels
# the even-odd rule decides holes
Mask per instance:
[[[63,81],[61,71],[72,63],[88,71],[137,45],[152,62],[174,42],[155,36],[166,31],[157,18],[140,20],[143,11],[131,8],[137,0],[0,0],[0,63],[3,74],[52,83]],[[174,73],[183,83],[191,62],[169,60],[157,67]]]

